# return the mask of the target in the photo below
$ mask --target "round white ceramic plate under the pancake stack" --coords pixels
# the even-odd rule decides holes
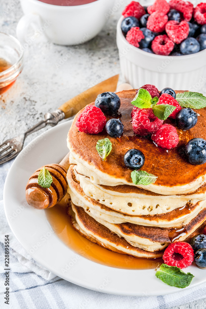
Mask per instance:
[[[15,237],[32,258],[46,269],[88,289],[130,296],[153,296],[180,291],[157,279],[153,269],[118,269],[78,256],[52,233],[44,211],[36,210],[26,203],[25,187],[30,175],[42,165],[59,163],[67,154],[66,138],[71,123],[64,122],[35,138],[10,168],[4,187],[4,206]],[[48,236],[46,241],[45,234]],[[195,275],[187,289],[206,281],[205,270],[192,265],[186,271]]]

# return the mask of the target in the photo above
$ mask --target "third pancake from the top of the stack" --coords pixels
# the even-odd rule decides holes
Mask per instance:
[[[181,208],[176,208],[175,210],[163,214],[148,214],[141,216],[127,215],[87,197],[80,186],[78,176],[79,175],[75,173],[75,166],[71,165],[67,173],[67,181],[69,184],[67,192],[70,194],[73,203],[83,207],[87,211],[89,210],[92,216],[99,219],[101,218],[110,223],[130,222],[145,226],[178,227],[188,224],[188,222],[195,218],[196,215],[206,207],[204,201],[196,202],[195,204],[188,202]],[[128,205],[127,207],[130,208]]]

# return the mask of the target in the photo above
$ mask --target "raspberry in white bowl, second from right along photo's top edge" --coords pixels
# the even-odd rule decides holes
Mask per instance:
[[[192,18],[193,4],[189,1],[171,0],[170,8],[182,13],[184,20],[190,21]]]

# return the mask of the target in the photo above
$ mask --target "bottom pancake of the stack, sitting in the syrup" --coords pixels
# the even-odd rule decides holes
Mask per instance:
[[[163,251],[149,252],[132,246],[123,237],[119,237],[107,227],[95,221],[81,207],[73,206],[72,209],[70,206],[68,213],[71,217],[73,227],[81,235],[106,249],[148,259],[163,256]]]

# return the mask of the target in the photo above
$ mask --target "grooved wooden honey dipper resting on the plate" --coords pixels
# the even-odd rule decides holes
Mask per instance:
[[[43,167],[38,168],[26,184],[27,203],[36,209],[50,208],[59,203],[67,193],[66,176],[69,165],[69,153],[59,164],[45,165],[53,180],[49,188],[42,188],[38,184],[38,174]]]

